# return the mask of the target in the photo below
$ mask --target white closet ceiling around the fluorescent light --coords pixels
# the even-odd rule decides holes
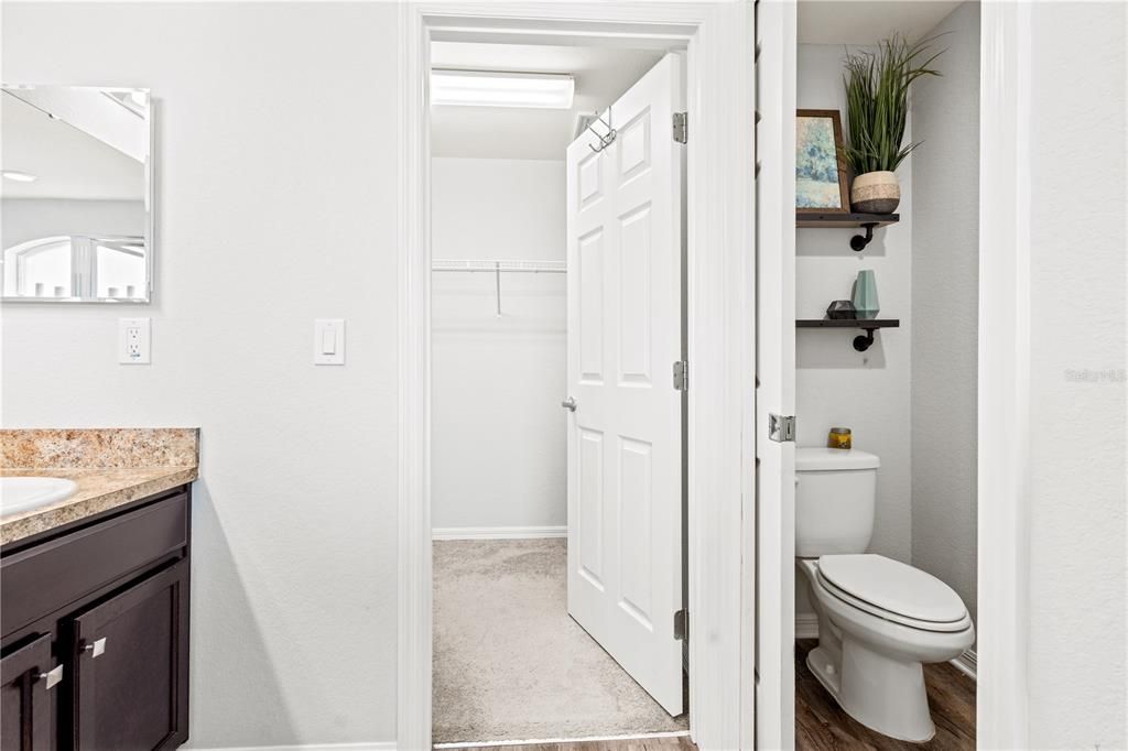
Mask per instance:
[[[662,54],[656,50],[435,42],[431,45],[434,68],[571,73],[575,99],[571,111],[433,106],[431,152],[435,157],[563,159],[576,117],[605,109]]]

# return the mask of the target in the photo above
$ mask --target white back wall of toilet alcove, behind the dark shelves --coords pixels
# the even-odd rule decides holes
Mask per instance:
[[[840,45],[799,45],[797,104],[803,109],[838,109],[845,127],[841,60]],[[901,320],[900,328],[880,332],[864,353],[851,344],[861,332],[796,333],[796,443],[826,445],[830,427],[844,425],[853,430],[855,448],[881,457],[870,550],[906,563],[911,541],[911,161],[897,170],[901,221],[875,230],[865,250],[851,250],[849,238],[858,230],[849,229],[800,229],[795,247],[799,318],[825,317],[831,300],[849,299],[857,272],[871,268],[878,280],[881,317]],[[805,592],[801,589],[796,597],[796,609],[805,609]]]

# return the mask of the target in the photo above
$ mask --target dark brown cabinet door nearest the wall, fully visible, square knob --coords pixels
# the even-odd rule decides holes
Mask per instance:
[[[187,565],[74,619],[78,751],[152,751],[187,740]]]

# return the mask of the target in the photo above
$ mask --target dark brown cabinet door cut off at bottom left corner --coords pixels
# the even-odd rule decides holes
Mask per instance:
[[[54,749],[51,697],[62,670],[51,659],[50,634],[0,660],[0,749]]]

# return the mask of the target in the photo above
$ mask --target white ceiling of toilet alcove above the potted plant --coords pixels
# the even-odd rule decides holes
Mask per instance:
[[[800,0],[802,44],[875,44],[901,34],[915,42],[948,14],[957,0]]]

